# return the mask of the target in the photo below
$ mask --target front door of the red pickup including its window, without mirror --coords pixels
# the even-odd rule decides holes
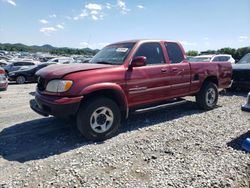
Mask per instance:
[[[160,101],[166,97],[169,65],[158,42],[143,43],[134,57],[145,56],[146,66],[133,67],[126,73],[126,92],[131,106]]]

